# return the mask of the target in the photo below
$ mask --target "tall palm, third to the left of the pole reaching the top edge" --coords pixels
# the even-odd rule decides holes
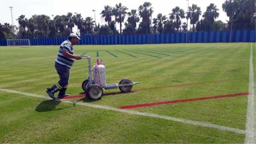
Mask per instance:
[[[150,20],[149,18],[151,17],[152,13],[154,12],[151,7],[151,3],[145,2],[143,5],[139,6],[139,16],[142,18],[142,23],[141,26],[142,28],[146,29],[146,34],[148,34],[148,29],[150,28]]]

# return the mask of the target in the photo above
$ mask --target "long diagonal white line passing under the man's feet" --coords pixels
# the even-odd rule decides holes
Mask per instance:
[[[42,96],[42,95],[37,95],[37,94],[32,94],[32,93],[27,93],[27,92],[21,92],[21,91],[16,91],[16,90],[7,90],[7,89],[2,89],[2,88],[0,88],[0,90],[5,91],[5,92],[10,92],[10,93],[27,95],[27,96],[31,96],[31,97],[40,97],[40,98],[45,98],[45,99],[51,99],[50,97],[45,97],[45,96]],[[73,101],[62,101],[62,102],[74,104]],[[78,104],[78,105],[89,106],[89,107],[93,107],[93,108],[111,110],[111,111],[128,113],[128,114],[133,114],[133,115],[147,116],[147,117],[152,117],[152,118],[167,119],[167,120],[178,121],[178,122],[181,122],[181,123],[195,125],[195,126],[215,128],[215,129],[218,129],[218,130],[221,130],[221,131],[230,131],[230,132],[241,133],[241,134],[245,133],[245,131],[241,130],[241,129],[226,127],[226,126],[220,126],[220,125],[214,125],[214,124],[209,124],[209,123],[204,123],[204,122],[199,122],[199,121],[174,118],[174,117],[158,115],[158,114],[153,114],[153,113],[147,113],[147,112],[137,112],[137,111],[119,109],[119,108],[104,106],[104,105],[96,105],[96,104],[89,104],[89,103],[83,103],[83,102],[75,102],[75,103]]]

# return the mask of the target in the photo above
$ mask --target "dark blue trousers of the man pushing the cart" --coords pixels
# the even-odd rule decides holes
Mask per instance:
[[[60,80],[58,81],[58,83],[63,88],[67,87],[69,79],[69,68],[57,62],[55,62],[55,68],[57,70],[58,75],[60,76]]]

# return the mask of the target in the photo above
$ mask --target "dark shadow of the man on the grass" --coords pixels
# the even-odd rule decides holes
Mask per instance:
[[[60,103],[61,103],[60,101],[55,101],[55,100],[43,101],[37,105],[36,112],[49,112],[49,111],[56,111],[56,110],[69,108],[69,107],[56,108],[56,106]]]

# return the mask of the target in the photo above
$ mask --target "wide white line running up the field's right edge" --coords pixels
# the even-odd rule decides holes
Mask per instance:
[[[250,55],[250,74],[249,74],[249,95],[246,114],[245,143],[256,143],[256,119],[255,119],[255,85],[254,85],[254,69],[253,69],[253,51],[251,43]]]

